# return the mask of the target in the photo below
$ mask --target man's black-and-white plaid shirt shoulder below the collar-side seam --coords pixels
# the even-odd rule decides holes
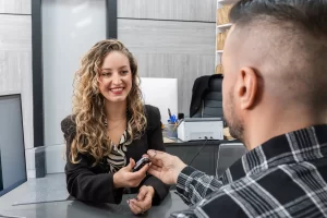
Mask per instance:
[[[223,215],[238,211],[241,215],[238,217],[294,216],[296,213],[302,214],[308,205],[318,210],[308,196],[316,195],[315,192],[325,187],[320,185],[320,190],[313,190],[310,186],[312,182],[326,184],[326,181],[323,177],[314,177],[315,174],[319,172],[312,162],[276,166],[222,186],[206,199],[201,209],[208,214],[208,217],[211,217],[210,213],[214,209],[217,214],[225,213]],[[286,205],[293,205],[294,208],[292,211],[288,210]],[[235,217],[234,214],[228,215]]]

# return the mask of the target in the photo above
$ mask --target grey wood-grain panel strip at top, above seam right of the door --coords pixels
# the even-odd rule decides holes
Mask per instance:
[[[217,0],[119,0],[118,17],[216,21]]]

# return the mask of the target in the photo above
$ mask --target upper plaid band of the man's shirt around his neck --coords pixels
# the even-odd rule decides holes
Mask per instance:
[[[223,177],[229,182],[280,165],[327,157],[327,124],[314,125],[274,137],[246,153]]]

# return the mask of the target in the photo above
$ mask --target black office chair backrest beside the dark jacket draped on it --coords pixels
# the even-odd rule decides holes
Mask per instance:
[[[202,106],[193,118],[222,118],[222,75],[215,74],[209,77],[208,87],[202,95]]]

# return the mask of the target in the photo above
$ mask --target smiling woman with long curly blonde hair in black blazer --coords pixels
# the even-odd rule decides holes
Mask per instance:
[[[143,105],[133,55],[118,40],[99,41],[82,59],[74,84],[73,116],[61,122],[69,193],[119,204],[123,193],[138,192],[129,201],[134,214],[160,203],[169,187],[146,174],[147,165],[132,172],[148,149],[165,150],[160,112]]]

